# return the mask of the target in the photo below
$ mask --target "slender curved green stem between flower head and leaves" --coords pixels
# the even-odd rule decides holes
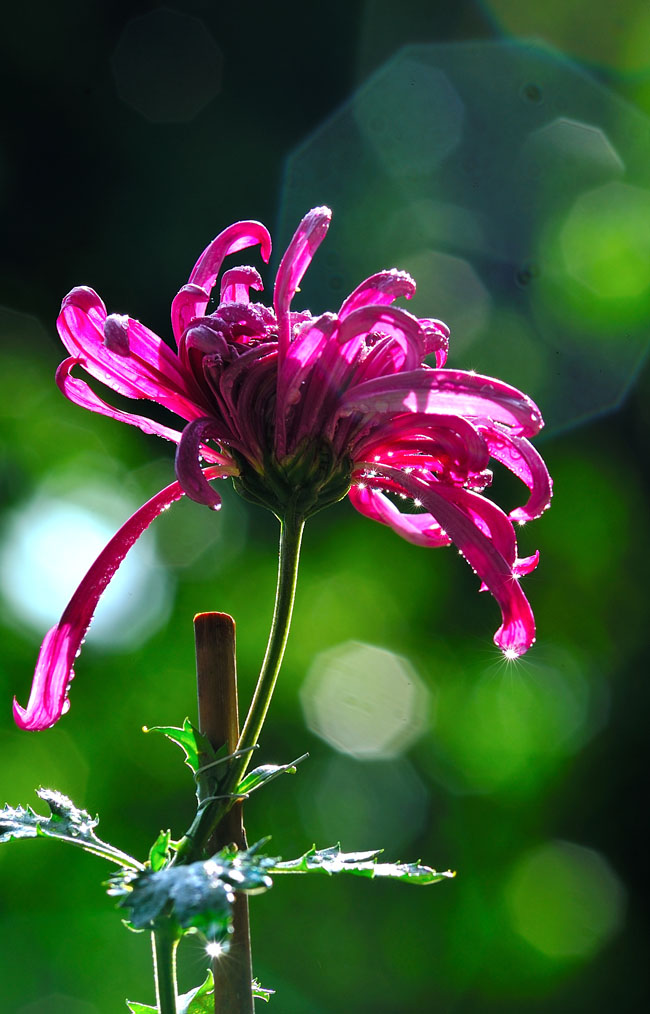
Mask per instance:
[[[269,711],[289,637],[303,528],[304,518],[292,514],[280,522],[278,585],[271,633],[258,685],[237,743],[236,752],[240,755],[233,759],[228,777],[220,786],[220,795],[225,798],[206,802],[199,809],[192,826],[178,844],[174,863],[190,863],[200,858],[215,827],[236,801],[237,786],[246,773]]]

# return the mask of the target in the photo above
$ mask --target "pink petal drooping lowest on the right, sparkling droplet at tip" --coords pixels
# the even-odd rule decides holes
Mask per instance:
[[[400,492],[418,499],[436,518],[497,600],[503,623],[494,636],[495,644],[512,657],[527,651],[534,642],[532,610],[517,580],[514,561],[509,563],[495,545],[493,532],[487,533],[483,526],[477,524],[476,518],[459,506],[460,497],[470,498],[473,495],[466,490],[442,484],[434,486],[385,464],[377,465],[377,470],[379,478],[368,480],[369,484],[379,486],[380,477],[385,477],[394,483]],[[450,494],[455,502],[450,499]]]

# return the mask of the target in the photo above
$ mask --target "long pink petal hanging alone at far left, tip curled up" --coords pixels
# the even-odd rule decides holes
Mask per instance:
[[[219,466],[206,468],[209,479],[222,476],[223,469]],[[48,729],[66,713],[75,658],[101,594],[143,531],[183,495],[179,483],[171,483],[156,493],[122,525],[94,561],[66,605],[61,620],[45,637],[27,707],[22,708],[14,699],[13,716],[21,729]]]

